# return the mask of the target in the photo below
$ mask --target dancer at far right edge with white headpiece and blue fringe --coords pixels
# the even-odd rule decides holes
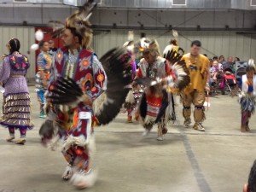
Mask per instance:
[[[247,66],[247,73],[241,77],[241,132],[250,131],[249,119],[255,111],[256,99],[256,68],[253,59]]]

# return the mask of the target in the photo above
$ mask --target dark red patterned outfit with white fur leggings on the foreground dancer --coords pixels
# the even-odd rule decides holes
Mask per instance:
[[[89,174],[90,146],[93,144],[94,113],[92,102],[107,88],[107,76],[96,55],[87,49],[77,49],[73,54],[68,49],[58,49],[55,55],[53,81],[49,91],[59,78],[73,79],[90,103],[76,102],[73,105],[53,106],[55,122],[61,128],[59,135],[64,139],[62,153],[76,174]],[[82,174],[82,175],[83,175]]]

